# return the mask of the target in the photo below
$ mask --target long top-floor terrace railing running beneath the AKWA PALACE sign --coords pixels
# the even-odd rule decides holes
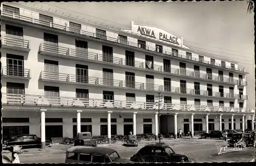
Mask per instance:
[[[19,20],[31,22],[31,23],[38,24],[38,25],[41,25],[41,26],[47,26],[47,27],[51,27],[53,29],[58,29],[58,30],[74,33],[73,30],[69,31],[69,29],[72,29],[72,27],[68,27],[67,25],[59,25],[59,24],[52,23],[52,22],[49,23],[47,21],[34,19],[34,18],[31,18],[31,17],[27,17],[27,16],[21,16],[21,15],[17,16],[16,14],[9,13],[9,12],[6,12],[6,11],[2,11],[2,15],[7,16],[7,17],[11,17],[13,19],[19,19]],[[77,29],[75,29],[75,33],[77,33]],[[154,52],[156,52],[158,50],[155,47],[150,47],[150,46],[146,46],[146,45],[141,46],[141,45],[139,45],[138,43],[135,43],[135,42],[127,42],[126,43],[126,42],[118,40],[118,38],[108,37],[107,35],[99,35],[98,33],[97,33],[98,35],[96,35],[95,33],[87,32],[87,31],[83,31],[83,30],[80,30],[80,33],[77,33],[77,34],[80,34],[80,35],[83,35],[83,36],[88,36],[88,37],[94,37],[94,38],[101,39],[101,40],[107,40],[107,41],[111,41],[111,42],[115,42],[115,43],[118,42],[120,44],[129,45],[129,46],[133,46],[133,47],[137,47],[137,48],[142,48],[142,49],[146,49],[146,50],[150,50],[150,51],[154,51]],[[209,65],[212,65],[212,66],[218,66],[218,67],[223,67],[223,68],[227,68],[227,69],[231,69],[231,70],[235,70],[235,71],[245,72],[244,69],[234,68],[234,67],[230,67],[230,66],[222,66],[221,64],[218,64],[218,63],[213,64],[209,61],[204,61],[204,60],[199,60],[199,59],[196,59],[196,58],[191,58],[190,56],[174,53],[174,52],[171,52],[169,50],[162,49],[161,51],[158,51],[158,52],[166,54],[168,56],[178,57],[178,58],[187,59],[187,60],[191,60],[191,61],[195,61],[195,62],[209,64]]]

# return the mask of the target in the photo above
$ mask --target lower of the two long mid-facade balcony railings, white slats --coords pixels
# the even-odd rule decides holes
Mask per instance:
[[[156,84],[153,85],[153,84],[146,84],[142,82],[106,79],[106,78],[99,78],[99,77],[89,77],[84,75],[64,74],[64,73],[56,73],[56,72],[50,72],[50,71],[41,71],[39,79],[53,80],[53,81],[57,80],[57,81],[63,81],[63,82],[76,82],[81,84],[101,85],[106,87],[133,88],[138,90],[161,91],[161,92],[170,92],[170,93],[176,93],[176,94],[236,98],[236,99],[239,98],[239,95],[237,94],[170,87],[170,86],[162,86],[162,85],[156,85]],[[248,98],[246,97],[246,95],[243,95],[243,98],[241,99],[248,99]]]

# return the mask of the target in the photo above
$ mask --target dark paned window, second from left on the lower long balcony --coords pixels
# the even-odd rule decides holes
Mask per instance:
[[[76,64],[76,82],[88,83],[88,66]]]

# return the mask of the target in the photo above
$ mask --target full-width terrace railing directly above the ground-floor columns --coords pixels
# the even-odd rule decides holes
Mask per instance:
[[[75,97],[51,97],[40,95],[17,95],[17,94],[2,94],[3,104],[8,105],[44,105],[44,106],[76,106],[76,107],[91,107],[91,108],[120,108],[120,109],[158,109],[155,103],[148,102],[131,102],[121,100],[102,100],[102,99],[84,99]],[[255,113],[252,108],[238,107],[220,107],[206,105],[191,105],[191,104],[167,104],[160,106],[161,112],[166,111],[196,111],[196,112],[228,112],[228,113]],[[92,109],[93,111],[93,109]]]

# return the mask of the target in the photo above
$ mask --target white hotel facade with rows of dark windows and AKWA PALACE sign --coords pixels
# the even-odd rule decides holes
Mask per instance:
[[[170,34],[158,27],[139,25],[133,22],[131,30],[126,30],[125,32],[124,30],[112,30],[108,27],[93,25],[68,17],[63,18],[63,16],[61,16],[60,18],[60,16],[56,14],[50,12],[46,13],[45,11],[38,11],[37,9],[31,8],[30,10],[34,11],[29,11],[27,9],[23,9],[20,6],[18,6],[18,8],[19,15],[17,13],[13,14],[11,9],[7,11],[6,7],[3,9],[3,5],[1,6],[1,11],[3,11],[1,31],[3,41],[1,58],[3,66],[2,93],[4,94],[2,99],[2,102],[4,103],[4,109],[2,112],[4,118],[23,117],[29,118],[29,122],[19,124],[16,122],[6,122],[3,123],[3,126],[27,125],[30,126],[29,132],[31,134],[40,135],[39,110],[47,109],[46,118],[62,118],[62,122],[46,122],[46,126],[62,125],[62,137],[72,137],[73,125],[76,125],[75,122],[72,122],[72,118],[77,118],[76,110],[82,110],[80,116],[81,119],[92,118],[92,122],[81,122],[81,125],[92,125],[92,134],[100,135],[100,125],[107,124],[106,122],[101,123],[100,118],[108,118],[107,111],[111,110],[111,118],[117,119],[116,122],[111,123],[111,125],[116,124],[117,126],[116,134],[124,134],[123,124],[133,124],[133,122],[123,122],[123,119],[132,119],[134,117],[134,112],[137,112],[137,134],[144,132],[143,124],[152,124],[152,133],[156,133],[156,128],[154,127],[155,114],[158,112],[158,110],[153,109],[155,108],[155,106],[153,106],[154,103],[149,107],[145,106],[145,104],[142,107],[138,106],[137,104],[137,106],[133,107],[134,110],[131,110],[131,107],[126,109],[127,106],[123,107],[122,109],[116,109],[116,106],[113,105],[110,107],[97,105],[96,100],[104,99],[102,94],[103,91],[113,92],[115,102],[125,102],[125,94],[133,93],[135,94],[135,104],[145,103],[146,95],[154,95],[156,97],[158,95],[158,91],[161,92],[161,96],[172,97],[172,104],[169,104],[169,106],[172,108],[167,108],[168,104],[164,104],[162,105],[164,107],[161,107],[160,110],[160,123],[162,128],[161,133],[162,130],[166,133],[174,133],[175,127],[178,129],[181,128],[184,131],[185,129],[183,124],[190,123],[190,120],[189,122],[183,122],[183,120],[191,119],[192,113],[195,114],[194,119],[202,119],[202,122],[194,121],[194,123],[202,123],[202,129],[200,130],[204,131],[207,130],[205,122],[206,114],[209,114],[209,119],[215,119],[214,122],[209,122],[215,123],[215,130],[219,130],[221,128],[218,122],[220,114],[223,114],[222,119],[224,119],[223,123],[225,123],[225,129],[228,128],[228,119],[230,119],[232,115],[234,115],[234,118],[237,118],[235,128],[239,129],[241,127],[240,119],[242,119],[243,115],[246,117],[248,116],[247,120],[251,120],[250,117],[254,114],[254,109],[246,107],[246,100],[248,99],[246,95],[246,86],[248,83],[246,81],[245,75],[247,72],[244,69],[239,69],[238,65],[234,62],[217,60],[215,58],[207,57],[200,52],[189,50],[187,46],[183,45],[183,38],[181,37]],[[26,7],[24,6],[24,8]],[[42,22],[39,21],[39,13],[52,16],[53,22],[47,23],[47,25],[44,23],[44,26],[41,26]],[[75,34],[71,32],[72,29],[70,27],[70,21],[81,25],[81,29],[76,30],[78,33]],[[20,38],[20,36],[17,37],[15,34],[8,34],[6,30],[6,26],[8,25],[22,27],[23,35],[21,38],[24,40],[22,46],[20,44],[13,44],[15,41],[20,42],[20,40],[17,40],[17,38]],[[135,33],[138,33],[138,26],[140,26],[140,28],[146,28],[147,33],[150,34],[151,37],[142,34],[135,35]],[[53,29],[53,27],[55,29]],[[97,39],[96,29],[105,31],[105,36],[103,36],[104,40],[102,40],[102,38]],[[159,40],[155,40],[152,38],[152,31],[154,31],[155,36],[159,35],[159,33],[161,33],[162,36],[165,34],[167,39],[172,36],[171,39],[176,40],[178,44],[175,42],[160,42]],[[132,34],[131,32],[134,33]],[[45,44],[46,39],[44,37],[44,33],[57,35],[57,47],[49,47],[49,45]],[[127,37],[126,44],[120,41],[120,35]],[[159,38],[156,37],[156,39]],[[77,49],[76,40],[87,42],[87,51],[83,51],[83,53],[88,52],[88,54],[86,53],[88,56],[87,58],[81,57],[80,55],[78,56],[76,53],[72,53]],[[138,40],[145,41],[146,44],[144,49],[142,49],[141,45],[138,44]],[[29,43],[28,46],[24,46],[26,41]],[[156,51],[156,44],[162,46],[162,51]],[[104,56],[106,56],[106,52],[102,50],[103,46],[109,46],[112,48],[112,63],[104,62],[103,59]],[[57,48],[57,51],[53,50],[55,48]],[[172,49],[177,49],[178,53],[174,53]],[[157,50],[159,50],[159,48]],[[126,64],[126,51],[134,52],[134,66]],[[187,52],[191,53],[191,56],[189,56]],[[19,76],[13,73],[10,74],[10,69],[7,70],[7,66],[10,67],[10,62],[7,60],[7,54],[23,56],[23,70],[29,69],[29,74],[27,72],[27,75],[24,73],[26,76]],[[152,67],[152,69],[146,69],[146,55],[154,57],[154,67]],[[199,59],[199,56],[204,57],[203,62],[200,62],[201,60]],[[166,72],[166,68],[164,69],[164,66],[166,65],[164,64],[164,59],[170,61],[170,66],[168,67],[168,71],[170,70],[169,72]],[[212,65],[210,64],[211,59],[215,60],[215,63]],[[53,73],[46,71],[47,69],[45,67],[45,60],[57,62],[58,64],[55,66],[57,66],[58,72]],[[222,61],[225,62],[225,66],[221,65]],[[181,71],[180,63],[185,63],[185,74]],[[86,75],[86,79],[88,79],[87,83],[76,81],[76,64],[88,66],[88,75]],[[136,66],[136,64],[138,64],[138,66]],[[195,65],[199,66],[200,68],[199,77],[196,77],[196,72],[194,70]],[[229,66],[232,66],[232,68]],[[102,79],[104,77],[102,71],[103,68],[113,70],[112,85],[104,84],[104,79]],[[209,76],[209,74],[207,75],[206,68],[211,69],[212,78]],[[223,72],[223,80],[220,78],[219,71]],[[126,84],[124,83],[126,80],[125,72],[132,72],[135,74],[135,81],[133,83],[135,85],[134,88],[126,87]],[[229,73],[233,74],[232,78],[230,78]],[[154,75],[153,89],[145,88],[147,87],[146,75]],[[242,75],[242,78],[239,78],[239,75]],[[170,78],[170,86],[165,85],[164,77]],[[180,93],[182,91],[180,87],[180,80],[186,81],[185,93]],[[12,99],[11,101],[11,94],[8,92],[9,83],[7,82],[24,84],[25,92],[23,94],[18,94],[16,99]],[[199,94],[196,94],[194,90],[194,82],[200,82]],[[207,84],[212,85],[212,95],[209,95],[209,92],[207,92]],[[48,103],[47,105],[38,104],[38,98],[41,98],[40,96],[46,95],[45,86],[58,87],[58,96],[57,99],[55,99],[58,103],[57,106],[55,105],[53,107],[54,104],[51,104],[52,101],[50,101],[52,98],[50,99],[49,97],[42,99],[44,103]],[[219,86],[223,86],[223,92],[220,92]],[[165,90],[165,87],[172,90]],[[230,92],[230,87],[233,88],[233,92]],[[88,90],[88,99],[90,99],[92,102],[89,101],[87,106],[80,105],[81,107],[79,108],[70,108],[68,102],[71,101],[71,99],[73,100],[77,97],[76,89]],[[239,89],[243,89],[242,94],[240,94]],[[186,98],[186,104],[184,104],[184,102],[182,103],[180,98]],[[200,99],[201,106],[194,106],[195,99]],[[208,101],[207,103],[207,100],[212,100],[212,102],[210,103],[210,101]],[[14,101],[17,103],[23,102],[23,105],[21,103],[19,106],[17,106],[17,103],[14,105]],[[26,105],[28,101],[30,105]],[[220,101],[223,101],[224,104],[220,105]],[[104,104],[104,101],[101,101],[101,103]],[[175,113],[178,113],[177,126],[174,124],[173,115]],[[152,119],[152,122],[143,122],[143,119]],[[162,125],[162,123],[164,125]],[[193,130],[191,129],[191,125],[189,126],[189,130]]]

